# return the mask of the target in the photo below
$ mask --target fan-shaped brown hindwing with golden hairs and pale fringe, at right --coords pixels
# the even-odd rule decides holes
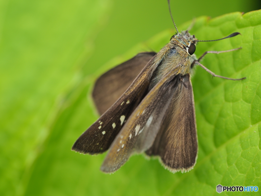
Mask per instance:
[[[193,89],[189,74],[181,78],[161,128],[148,155],[158,155],[172,172],[186,172],[196,163],[198,152]]]

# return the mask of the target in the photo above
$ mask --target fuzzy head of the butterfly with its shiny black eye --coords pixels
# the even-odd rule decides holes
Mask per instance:
[[[189,34],[188,31],[181,31],[170,38],[170,43],[179,45],[183,48],[189,55],[194,54],[196,50],[196,44],[198,39],[195,35]]]

